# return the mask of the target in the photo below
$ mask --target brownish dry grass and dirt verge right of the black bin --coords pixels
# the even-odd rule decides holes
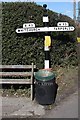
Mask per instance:
[[[78,67],[64,68],[58,70],[59,76],[57,76],[58,92],[57,95],[60,98],[64,98],[69,94],[72,94],[78,89]],[[58,98],[57,98],[58,100]]]

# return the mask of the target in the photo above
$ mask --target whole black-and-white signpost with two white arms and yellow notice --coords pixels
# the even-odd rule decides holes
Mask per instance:
[[[51,37],[49,35],[50,32],[54,31],[74,31],[75,28],[73,26],[69,26],[68,22],[58,22],[56,27],[49,27],[49,18],[46,10],[47,5],[44,4],[44,15],[43,15],[43,27],[35,27],[34,23],[25,23],[23,24],[23,28],[16,29],[16,33],[31,33],[31,32],[44,32],[45,40],[44,40],[44,51],[45,51],[45,69],[50,68],[50,53],[49,49],[51,46]]]

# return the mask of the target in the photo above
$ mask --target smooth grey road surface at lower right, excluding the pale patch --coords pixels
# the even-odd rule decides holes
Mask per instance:
[[[47,111],[43,118],[78,118],[78,92],[72,94],[51,111]]]

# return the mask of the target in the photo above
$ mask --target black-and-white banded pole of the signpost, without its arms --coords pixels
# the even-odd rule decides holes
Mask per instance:
[[[47,5],[43,5],[44,14],[43,14],[43,24],[44,27],[49,27],[49,18],[46,10]],[[51,37],[50,32],[45,32],[45,40],[44,40],[44,52],[45,52],[45,61],[44,61],[44,69],[50,68],[50,46],[51,46]]]

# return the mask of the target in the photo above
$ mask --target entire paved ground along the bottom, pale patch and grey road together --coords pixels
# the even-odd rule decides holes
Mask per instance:
[[[1,98],[1,97],[0,97]],[[1,102],[1,99],[0,99]],[[0,104],[1,113],[1,104]],[[1,116],[1,115],[0,115]],[[72,94],[52,110],[28,98],[2,98],[3,117],[78,118],[78,93]]]

